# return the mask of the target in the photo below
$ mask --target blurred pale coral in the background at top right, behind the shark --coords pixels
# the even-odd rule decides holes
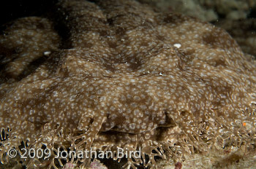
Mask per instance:
[[[224,17],[230,20],[246,19],[251,9],[256,9],[255,0],[139,0],[162,11],[180,12],[204,21]]]

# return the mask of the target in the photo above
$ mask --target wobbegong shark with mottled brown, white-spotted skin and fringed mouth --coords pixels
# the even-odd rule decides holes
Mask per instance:
[[[68,33],[61,42],[39,17],[1,36],[1,162],[20,141],[52,152],[141,149],[127,168],[255,144],[256,62],[222,29],[132,0],[59,1],[56,13]],[[67,160],[78,161],[89,162]],[[53,157],[26,162],[57,168]]]

